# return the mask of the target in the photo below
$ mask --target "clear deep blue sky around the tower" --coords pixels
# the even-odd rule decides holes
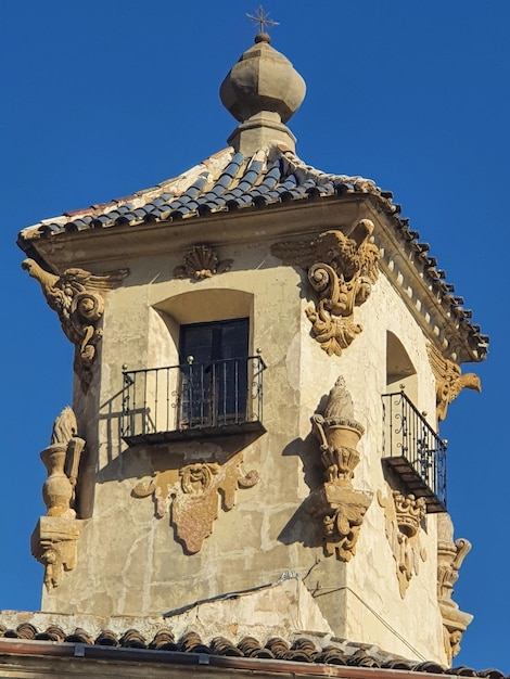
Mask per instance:
[[[3,0],[0,608],[37,610],[39,451],[71,401],[72,347],[21,270],[17,232],[154,185],[226,146],[218,88],[253,41],[257,2]],[[442,426],[456,536],[473,543],[455,600],[475,619],[456,664],[510,672],[508,284],[510,2],[272,0],[273,46],[307,82],[297,153],[393,191],[490,335]]]

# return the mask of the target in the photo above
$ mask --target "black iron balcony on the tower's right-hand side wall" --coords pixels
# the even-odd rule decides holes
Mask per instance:
[[[407,492],[424,498],[428,512],[446,511],[446,441],[442,440],[404,392],[383,401],[383,464]]]

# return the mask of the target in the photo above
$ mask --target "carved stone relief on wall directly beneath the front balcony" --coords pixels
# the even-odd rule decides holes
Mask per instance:
[[[171,510],[171,524],[186,551],[194,554],[213,531],[218,517],[219,494],[225,511],[235,503],[238,488],[251,488],[258,483],[258,472],[241,473],[242,456],[237,454],[225,464],[197,462],[179,470],[156,472],[149,482],[138,484],[132,495],[146,498],[153,495],[158,518]]]

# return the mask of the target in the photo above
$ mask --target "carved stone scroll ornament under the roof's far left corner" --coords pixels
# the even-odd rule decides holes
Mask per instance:
[[[128,276],[119,269],[93,276],[84,269],[66,269],[61,276],[46,271],[34,259],[25,259],[22,268],[39,281],[51,309],[59,315],[62,330],[75,345],[74,369],[87,390],[95,358],[95,345],[101,340],[99,322],[104,311],[104,293],[117,287]]]

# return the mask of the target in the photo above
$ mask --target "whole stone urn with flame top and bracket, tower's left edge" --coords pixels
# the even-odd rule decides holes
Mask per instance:
[[[48,589],[62,582],[64,571],[76,566],[81,523],[76,520],[75,488],[85,440],[77,435],[76,415],[66,406],[53,424],[51,444],[41,452],[48,471],[42,486],[47,515],[31,536],[31,553],[44,566]]]

